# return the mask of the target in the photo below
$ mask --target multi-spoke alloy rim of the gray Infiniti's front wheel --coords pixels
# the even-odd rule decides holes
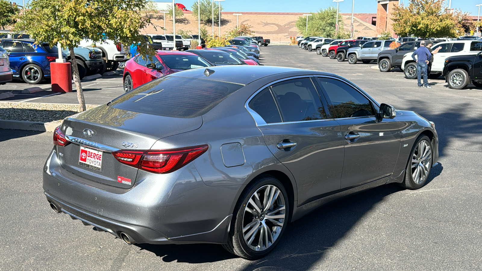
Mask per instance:
[[[412,179],[419,185],[428,177],[430,162],[432,161],[432,149],[427,140],[418,143],[412,156]]]

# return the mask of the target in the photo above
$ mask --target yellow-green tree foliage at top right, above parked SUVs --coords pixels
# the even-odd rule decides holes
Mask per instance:
[[[464,25],[473,24],[467,13],[455,10],[454,14],[446,13],[445,0],[411,0],[408,6],[395,6],[393,30],[395,34],[420,38],[455,38],[465,33]]]

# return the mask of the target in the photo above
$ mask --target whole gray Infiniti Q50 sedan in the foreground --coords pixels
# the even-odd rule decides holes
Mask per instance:
[[[66,118],[43,169],[52,209],[126,244],[267,255],[286,225],[387,183],[422,187],[435,124],[320,71],[196,68]]]

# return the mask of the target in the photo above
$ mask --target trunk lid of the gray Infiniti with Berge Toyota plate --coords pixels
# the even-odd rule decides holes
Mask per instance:
[[[57,146],[59,159],[75,175],[128,189],[138,169],[117,161],[113,151],[147,150],[163,137],[196,130],[201,124],[201,116],[172,118],[103,105],[64,120],[61,130],[71,143]]]

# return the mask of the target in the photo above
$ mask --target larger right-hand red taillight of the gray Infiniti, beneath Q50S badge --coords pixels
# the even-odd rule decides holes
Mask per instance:
[[[119,150],[112,154],[120,163],[152,173],[170,173],[198,158],[207,149],[207,145],[202,145],[182,149]]]

